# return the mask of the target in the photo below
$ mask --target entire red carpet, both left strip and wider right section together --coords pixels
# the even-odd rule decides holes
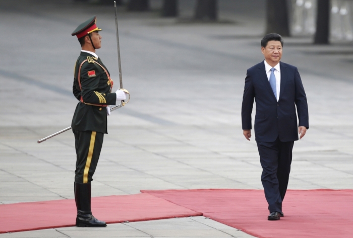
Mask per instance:
[[[164,190],[92,198],[107,223],[203,215],[261,238],[353,237],[353,190],[289,190],[284,217],[267,221],[262,190]],[[201,213],[202,212],[202,213]],[[0,205],[0,233],[74,226],[74,200]]]

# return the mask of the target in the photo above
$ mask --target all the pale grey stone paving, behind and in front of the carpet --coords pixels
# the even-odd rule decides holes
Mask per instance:
[[[71,32],[92,15],[103,28],[97,54],[119,78],[113,8],[48,2],[0,1],[0,204],[74,198],[72,132],[36,140],[70,126],[80,51]],[[180,2],[187,19],[193,1]],[[247,1],[252,11],[244,2],[220,1],[216,24],[119,10],[124,87],[132,100],[108,118],[92,196],[262,189],[255,138],[243,137],[240,112],[246,69],[263,59],[264,1]],[[295,143],[289,189],[353,189],[352,45],[284,40],[282,61],[298,66],[310,112],[310,129]],[[0,234],[86,236],[250,237],[204,217]]]

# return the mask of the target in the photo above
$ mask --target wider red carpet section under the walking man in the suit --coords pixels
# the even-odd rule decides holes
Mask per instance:
[[[267,221],[263,190],[142,191],[260,238],[353,237],[353,190],[288,190],[284,217]]]

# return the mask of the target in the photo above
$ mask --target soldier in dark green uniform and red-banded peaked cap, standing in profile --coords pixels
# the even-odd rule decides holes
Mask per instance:
[[[74,96],[79,100],[72,119],[75,135],[76,170],[75,201],[76,226],[103,227],[104,221],[96,219],[91,212],[91,181],[96,170],[103,135],[107,133],[108,105],[126,99],[123,90],[111,92],[113,81],[102,60],[96,55],[102,37],[96,26],[96,17],[82,23],[72,33],[81,44],[81,54],[74,69]]]

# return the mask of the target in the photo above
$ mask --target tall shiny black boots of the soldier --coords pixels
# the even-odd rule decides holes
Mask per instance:
[[[91,212],[91,183],[75,182],[75,201],[77,207],[76,226],[105,227],[104,221],[97,220]]]

